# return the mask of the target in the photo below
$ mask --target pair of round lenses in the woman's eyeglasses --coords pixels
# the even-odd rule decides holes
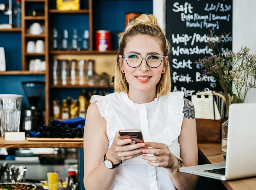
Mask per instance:
[[[130,54],[127,56],[127,63],[130,67],[138,67],[142,62],[140,55]],[[158,67],[161,64],[161,57],[159,55],[149,55],[146,58],[149,67]]]

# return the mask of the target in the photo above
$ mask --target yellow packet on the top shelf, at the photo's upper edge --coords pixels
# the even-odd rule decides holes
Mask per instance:
[[[56,0],[56,7],[60,11],[77,11],[80,9],[79,0]]]

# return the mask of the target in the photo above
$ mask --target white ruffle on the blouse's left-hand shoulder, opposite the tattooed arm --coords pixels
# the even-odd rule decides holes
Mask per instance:
[[[98,101],[96,104],[100,110],[101,116],[104,117],[104,119],[107,121],[107,133],[111,134],[114,137],[116,131],[121,130],[121,126],[111,107],[108,99],[109,96],[113,96],[113,94],[109,94],[106,96],[94,95],[91,97],[91,103],[94,101]]]

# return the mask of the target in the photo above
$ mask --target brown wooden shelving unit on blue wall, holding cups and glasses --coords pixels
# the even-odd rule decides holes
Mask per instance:
[[[49,7],[48,0],[23,0],[21,1],[21,28],[12,28],[12,29],[0,29],[0,32],[21,32],[21,60],[22,66],[21,70],[9,70],[6,72],[0,72],[1,75],[44,75],[45,76],[45,118],[46,124],[49,123],[49,117],[52,116],[52,100],[53,93],[57,89],[74,89],[74,88],[87,88],[87,89],[108,89],[108,86],[89,86],[89,85],[75,85],[75,86],[54,86],[52,85],[52,60],[56,59],[85,59],[88,61],[89,59],[97,60],[96,56],[100,57],[98,59],[104,60],[104,55],[114,56],[117,54],[117,50],[111,50],[106,52],[99,52],[94,49],[94,32],[93,32],[93,14],[92,14],[92,0],[88,0],[88,9],[81,9],[78,11],[59,11],[56,7]],[[28,8],[33,4],[43,4],[44,5],[44,16],[28,16],[26,15],[28,12]],[[91,50],[80,50],[80,51],[64,51],[64,50],[49,50],[49,33],[53,28],[52,20],[56,15],[88,15],[89,23],[85,21],[85,24],[89,25],[87,28],[89,29],[89,47]],[[51,16],[49,18],[49,15]],[[45,33],[40,35],[32,35],[26,33],[27,28],[33,22],[44,23]],[[65,21],[64,21],[65,22]],[[50,25],[50,27],[49,27]],[[50,29],[49,29],[50,28]],[[45,46],[44,53],[27,53],[26,46],[28,41],[37,41],[43,40]],[[88,57],[88,58],[87,58]],[[32,59],[41,59],[46,62],[46,71],[45,72],[30,72],[29,71],[29,62]],[[112,59],[112,58],[111,58]],[[49,61],[50,60],[50,61]],[[101,64],[110,64],[112,61],[106,60]],[[97,64],[97,63],[96,63]],[[104,67],[106,67],[104,65]],[[112,66],[108,66],[112,67]],[[102,68],[102,67],[101,67]],[[100,72],[105,72],[105,70],[100,70]],[[108,71],[109,72],[109,71]],[[113,88],[113,85],[110,86]],[[51,89],[51,90],[50,90]],[[51,145],[52,146],[52,145]]]

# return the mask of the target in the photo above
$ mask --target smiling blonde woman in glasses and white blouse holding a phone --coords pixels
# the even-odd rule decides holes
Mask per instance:
[[[197,176],[178,172],[198,164],[196,122],[184,93],[170,93],[169,51],[153,15],[143,14],[126,28],[115,64],[115,93],[92,96],[87,111],[85,189],[196,189]],[[121,129],[141,130],[145,143],[121,140]]]

